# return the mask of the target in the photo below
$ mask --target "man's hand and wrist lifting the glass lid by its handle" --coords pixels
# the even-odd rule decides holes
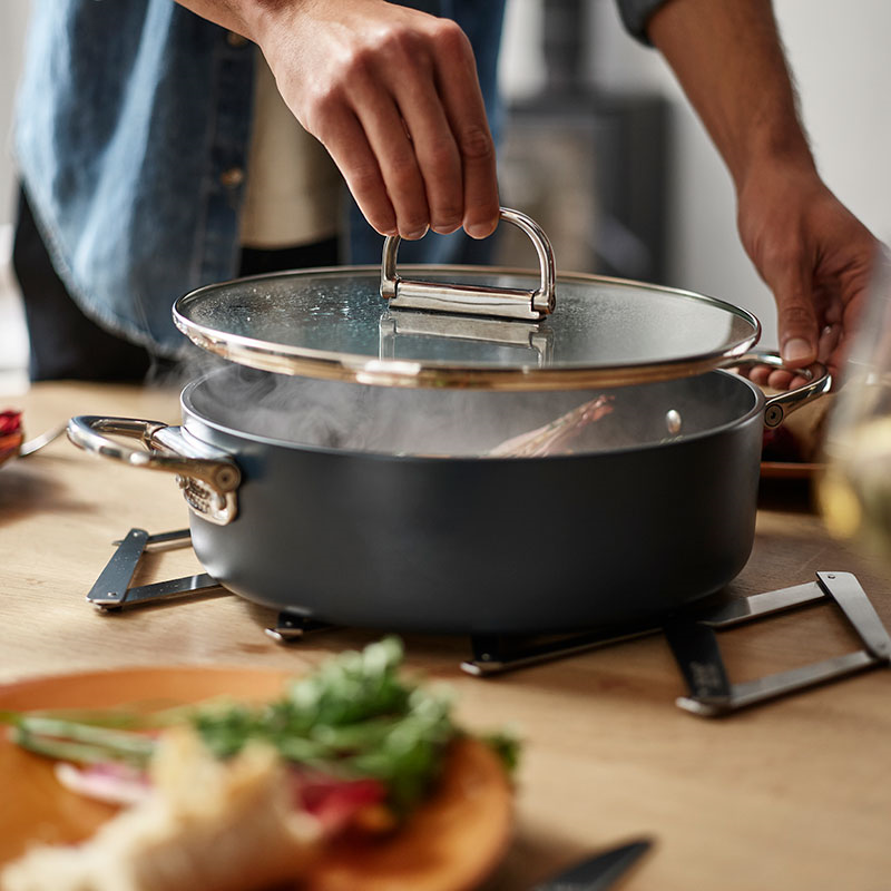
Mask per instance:
[[[384,0],[179,2],[260,46],[382,235],[495,231],[495,144],[470,41],[451,19]]]

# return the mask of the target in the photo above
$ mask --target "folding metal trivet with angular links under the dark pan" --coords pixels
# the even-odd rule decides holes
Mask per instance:
[[[144,606],[174,597],[228,594],[206,572],[129,587],[147,549],[185,547],[189,542],[188,529],[151,536],[145,529],[130,529],[120,541],[115,542],[118,548],[87,599],[102,611],[114,611],[125,606]],[[863,642],[863,649],[755,681],[731,683],[716,630],[734,628],[820,601],[838,604]],[[286,644],[301,639],[310,631],[332,627],[327,623],[284,610],[278,614],[275,626],[266,628],[266,634]],[[658,631],[665,634],[689,687],[689,694],[679,697],[677,705],[707,717],[726,715],[777,696],[891,664],[891,637],[856,578],[850,572],[817,572],[816,581],[750,597],[732,597],[717,606],[694,605],[659,624],[613,625],[549,638],[470,635],[472,658],[461,663],[461,668],[480,677],[502,674]]]

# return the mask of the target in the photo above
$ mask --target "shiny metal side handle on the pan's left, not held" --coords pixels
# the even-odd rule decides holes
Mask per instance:
[[[136,439],[143,448],[109,437]],[[238,466],[218,449],[193,438],[186,440],[178,427],[135,418],[84,414],[69,420],[68,439],[98,458],[174,473],[195,513],[218,526],[235,519],[236,491],[242,481]]]

